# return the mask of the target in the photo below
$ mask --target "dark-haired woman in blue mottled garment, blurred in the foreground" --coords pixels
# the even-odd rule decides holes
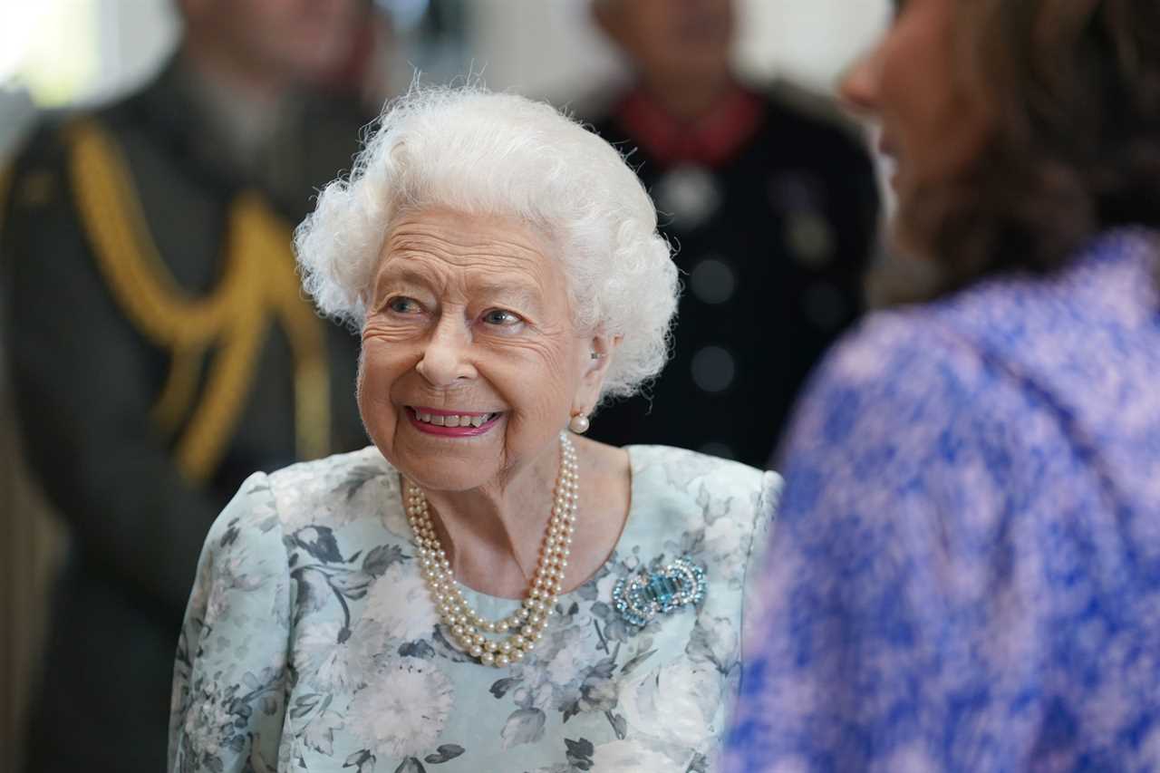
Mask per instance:
[[[1160,770],[1160,3],[898,6],[846,93],[942,281],[799,409],[726,768]]]

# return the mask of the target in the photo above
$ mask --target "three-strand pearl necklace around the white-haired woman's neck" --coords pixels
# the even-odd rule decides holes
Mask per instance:
[[[495,621],[483,617],[463,598],[451,571],[451,562],[432,525],[427,496],[419,486],[407,483],[407,520],[415,535],[419,564],[435,608],[450,628],[455,642],[484,665],[503,667],[516,663],[543,637],[548,617],[556,607],[556,598],[564,590],[564,572],[575,532],[579,483],[575,447],[567,433],[560,433],[560,472],[556,478],[552,516],[548,521],[531,587],[515,613]],[[502,638],[488,636],[513,630],[514,634]]]

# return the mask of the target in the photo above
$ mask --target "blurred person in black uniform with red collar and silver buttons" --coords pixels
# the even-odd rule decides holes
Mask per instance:
[[[739,80],[731,0],[593,9],[636,77],[595,128],[631,153],[686,291],[651,403],[608,406],[592,432],[764,465],[806,374],[861,310],[877,229],[871,162],[821,97]]]

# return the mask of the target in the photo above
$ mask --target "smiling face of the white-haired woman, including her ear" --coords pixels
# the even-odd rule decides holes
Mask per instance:
[[[603,337],[572,324],[554,246],[516,219],[423,210],[384,244],[363,325],[371,440],[430,490],[502,483],[600,396]]]

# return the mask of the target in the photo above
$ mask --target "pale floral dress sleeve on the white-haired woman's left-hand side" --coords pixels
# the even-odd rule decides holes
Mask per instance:
[[[281,522],[256,474],[202,549],[174,666],[171,773],[278,768],[290,606]]]

